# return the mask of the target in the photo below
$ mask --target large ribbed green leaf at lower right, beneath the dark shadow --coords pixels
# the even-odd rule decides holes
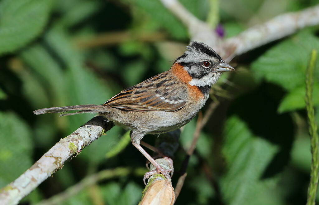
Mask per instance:
[[[226,175],[221,180],[224,198],[230,205],[253,204],[256,194],[269,190],[260,177],[277,148],[255,137],[236,116],[227,120],[224,139],[222,153],[227,166]]]

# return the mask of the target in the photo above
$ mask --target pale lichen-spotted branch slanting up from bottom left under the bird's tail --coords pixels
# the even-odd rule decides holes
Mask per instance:
[[[63,167],[63,164],[98,139],[114,126],[97,116],[82,125],[69,136],[61,139],[19,178],[0,191],[0,204],[18,204],[45,179]]]

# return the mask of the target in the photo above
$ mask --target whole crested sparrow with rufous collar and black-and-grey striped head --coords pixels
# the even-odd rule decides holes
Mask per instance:
[[[130,130],[130,138],[156,168],[144,175],[161,173],[170,178],[172,170],[163,169],[140,145],[145,134],[174,131],[191,121],[209,98],[211,86],[222,72],[234,71],[210,46],[192,41],[171,68],[137,85],[126,88],[101,105],[75,105],[44,108],[34,114],[98,113],[115,125]],[[65,113],[68,111],[77,111]]]

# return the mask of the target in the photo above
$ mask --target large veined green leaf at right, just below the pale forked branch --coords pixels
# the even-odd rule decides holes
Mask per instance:
[[[256,78],[264,78],[286,90],[305,85],[306,68],[312,49],[319,49],[319,39],[301,32],[269,49],[252,64]],[[319,79],[319,64],[315,79]]]

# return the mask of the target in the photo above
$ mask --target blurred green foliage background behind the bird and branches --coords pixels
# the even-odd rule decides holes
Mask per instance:
[[[207,20],[209,0],[180,2]],[[225,0],[219,1],[219,20],[230,37],[315,4],[317,0]],[[176,204],[306,203],[311,157],[305,71],[311,50],[319,50],[318,31],[304,29],[233,60],[236,72],[224,74],[213,88],[211,98],[220,104],[190,157]],[[159,0],[0,1],[0,187],[94,116],[35,116],[33,110],[102,104],[169,69],[188,43],[187,28]],[[313,96],[319,122],[318,64]],[[173,185],[196,120],[182,129]],[[144,156],[125,133],[112,128],[24,202],[48,199],[104,169],[144,166]],[[154,136],[144,139],[154,144]],[[133,205],[143,187],[142,176],[102,180],[63,204]]]

